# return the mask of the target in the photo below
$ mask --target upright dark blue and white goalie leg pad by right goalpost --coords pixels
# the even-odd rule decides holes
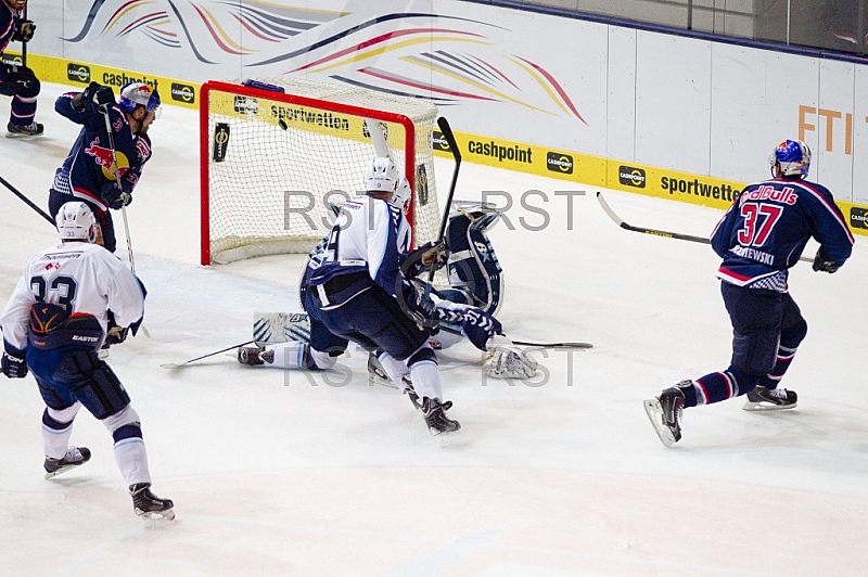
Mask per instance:
[[[471,220],[467,214],[450,218],[446,245],[451,252],[449,285],[468,293],[472,298],[468,304],[496,315],[502,302],[503,271],[484,232],[490,222],[488,217]]]

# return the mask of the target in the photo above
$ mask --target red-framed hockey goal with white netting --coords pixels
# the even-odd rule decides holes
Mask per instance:
[[[331,229],[330,204],[363,191],[365,168],[384,146],[413,190],[414,244],[436,238],[433,104],[256,78],[206,82],[200,106],[203,265],[309,252]]]

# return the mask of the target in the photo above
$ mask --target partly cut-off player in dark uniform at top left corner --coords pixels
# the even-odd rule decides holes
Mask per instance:
[[[24,20],[27,0],[2,0],[0,2],[0,55],[10,42],[29,42],[36,25]],[[12,97],[12,114],[7,125],[8,137],[38,137],[44,127],[37,123],[36,97],[39,95],[39,79],[27,66],[0,63],[0,94]]]

